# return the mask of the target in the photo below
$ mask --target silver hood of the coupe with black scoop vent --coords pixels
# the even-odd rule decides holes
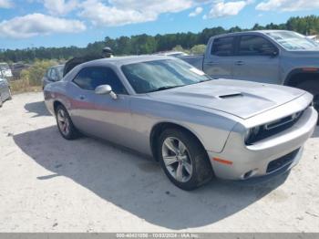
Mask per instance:
[[[180,88],[149,93],[149,97],[215,109],[248,119],[304,95],[305,91],[242,80],[216,79]]]

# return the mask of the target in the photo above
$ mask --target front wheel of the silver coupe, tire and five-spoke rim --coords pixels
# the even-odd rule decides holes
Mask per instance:
[[[172,146],[175,147],[173,151]],[[164,130],[160,135],[158,153],[160,165],[170,182],[182,190],[194,190],[213,177],[207,152],[186,130]]]

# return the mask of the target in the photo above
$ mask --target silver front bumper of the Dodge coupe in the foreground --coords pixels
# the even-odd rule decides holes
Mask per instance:
[[[301,158],[304,142],[313,135],[317,118],[316,110],[309,107],[293,127],[253,145],[245,145],[242,135],[232,131],[221,153],[208,151],[216,177],[248,180],[290,170]]]

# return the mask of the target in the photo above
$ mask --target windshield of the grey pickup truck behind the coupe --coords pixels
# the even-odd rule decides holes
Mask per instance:
[[[319,47],[318,43],[295,32],[271,32],[267,35],[287,50],[307,50]]]

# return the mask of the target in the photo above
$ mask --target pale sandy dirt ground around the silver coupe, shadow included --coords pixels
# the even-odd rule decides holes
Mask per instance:
[[[41,93],[0,109],[0,232],[319,232],[319,129],[290,174],[174,187],[107,142],[63,140]]]

